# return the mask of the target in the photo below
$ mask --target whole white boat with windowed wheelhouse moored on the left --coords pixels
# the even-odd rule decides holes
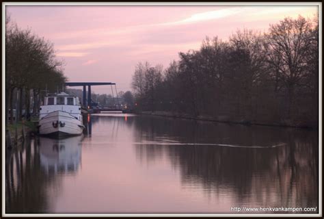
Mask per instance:
[[[45,96],[38,127],[41,135],[81,135],[85,127],[79,97],[65,92]]]

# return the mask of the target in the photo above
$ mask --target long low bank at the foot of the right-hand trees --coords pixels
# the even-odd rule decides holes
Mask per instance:
[[[165,112],[165,111],[144,111],[144,112],[136,112],[136,114],[142,115],[149,115],[149,116],[164,116],[170,118],[185,118],[191,120],[203,120],[203,121],[210,121],[215,123],[232,123],[232,124],[241,124],[241,125],[263,125],[263,126],[273,126],[273,127],[294,127],[294,128],[301,128],[301,129],[314,129],[317,130],[318,127],[312,125],[305,125],[305,124],[293,124],[291,121],[283,121],[278,123],[270,123],[270,122],[256,122],[256,121],[249,121],[249,120],[234,120],[230,119],[228,116],[217,116],[217,118],[213,116],[192,116],[189,114],[183,113],[176,113],[176,112]]]

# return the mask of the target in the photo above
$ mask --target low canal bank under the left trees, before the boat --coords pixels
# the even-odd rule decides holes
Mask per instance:
[[[37,131],[37,118],[30,121],[21,120],[18,123],[5,125],[5,145],[16,146],[23,142],[27,136]]]

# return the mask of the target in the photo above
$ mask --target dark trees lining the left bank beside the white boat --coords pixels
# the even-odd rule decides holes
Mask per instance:
[[[38,112],[42,92],[54,92],[66,81],[63,63],[55,58],[53,44],[5,20],[5,121],[13,123]],[[31,103],[31,99],[33,103]]]

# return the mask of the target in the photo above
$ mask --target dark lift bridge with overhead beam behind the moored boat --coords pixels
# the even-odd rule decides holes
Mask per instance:
[[[103,86],[103,85],[110,85],[111,86],[111,92],[113,94],[113,87],[115,86],[115,90],[116,90],[116,97],[118,100],[118,96],[117,96],[117,88],[116,88],[116,83],[111,83],[111,82],[66,82],[65,83],[66,86],[70,86],[70,87],[83,87],[83,96],[82,96],[82,104],[84,107],[87,107],[87,110],[92,112],[94,110],[94,105],[96,105],[96,103],[94,103],[94,101],[92,101],[91,99],[91,86]],[[87,88],[87,90],[86,90]],[[120,104],[117,104],[117,107],[103,107],[100,109],[95,109],[96,112],[98,111],[122,111],[122,108],[120,107]]]

